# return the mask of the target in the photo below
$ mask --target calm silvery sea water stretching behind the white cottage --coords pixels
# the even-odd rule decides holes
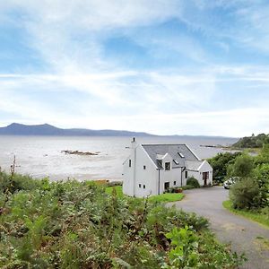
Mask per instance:
[[[221,149],[204,148],[200,144],[228,145],[232,138],[138,137],[138,143],[187,143],[202,159],[213,157]],[[0,167],[9,170],[16,156],[16,171],[35,178],[52,180],[77,178],[122,179],[122,163],[128,157],[130,137],[62,137],[1,136]],[[66,155],[61,151],[100,152],[98,156]]]

